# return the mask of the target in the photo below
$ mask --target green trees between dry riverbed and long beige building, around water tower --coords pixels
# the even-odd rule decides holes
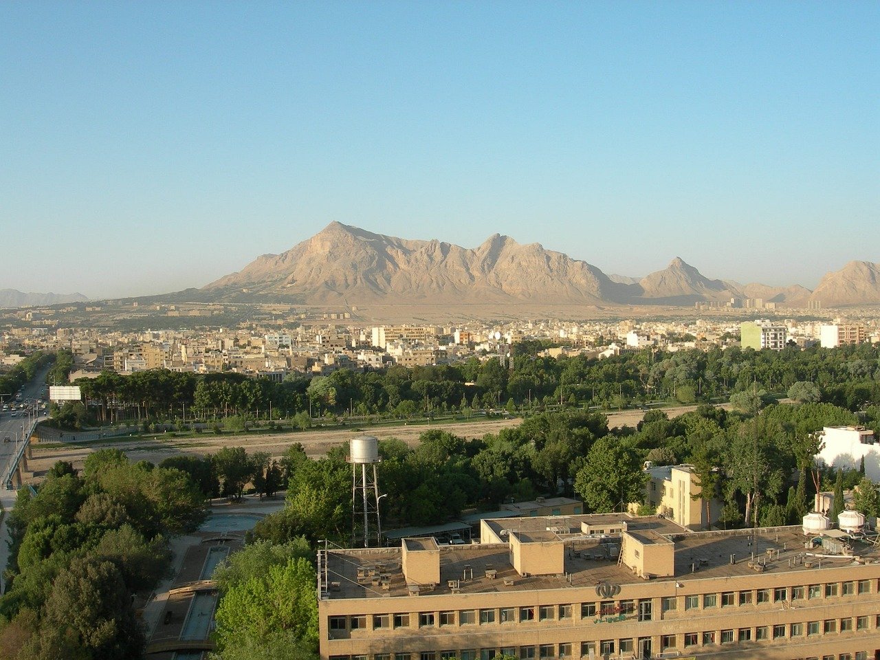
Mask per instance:
[[[605,415],[581,411],[533,415],[516,427],[467,440],[431,429],[410,447],[379,441],[378,479],[385,528],[436,524],[462,510],[491,510],[539,494],[576,495],[587,511],[642,502],[642,464],[689,462],[708,496],[725,502],[722,524],[795,524],[817,488],[834,474],[813,467],[816,431],[853,423],[854,414],[823,403],[771,405],[757,414],[700,406],[668,419],[649,411],[637,429],[609,429]],[[298,444],[280,461],[285,508],[257,525],[257,538],[345,545],[351,519],[351,466],[346,449],[312,460]],[[845,475],[847,488],[857,483]]]

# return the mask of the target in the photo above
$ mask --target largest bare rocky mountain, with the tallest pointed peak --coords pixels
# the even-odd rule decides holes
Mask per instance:
[[[407,240],[341,223],[281,254],[264,254],[202,289],[213,297],[311,304],[421,302],[602,304],[628,297],[585,261],[495,234],[474,249]]]

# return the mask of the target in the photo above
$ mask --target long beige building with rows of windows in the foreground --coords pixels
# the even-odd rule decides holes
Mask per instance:
[[[323,660],[880,656],[880,553],[801,527],[606,514],[319,553]]]

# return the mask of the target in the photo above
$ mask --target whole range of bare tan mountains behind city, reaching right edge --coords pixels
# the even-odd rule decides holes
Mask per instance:
[[[859,266],[861,264],[861,266]],[[676,257],[640,279],[601,269],[537,243],[494,234],[473,249],[439,240],[409,240],[331,223],[280,254],[263,254],[238,273],[199,290],[160,299],[179,302],[292,304],[614,304],[691,305],[731,297],[795,306],[821,298],[880,303],[878,266],[853,262],[810,293],[799,285],[772,287],[708,278]],[[847,270],[849,269],[849,270]],[[826,279],[834,274],[826,275]],[[873,278],[873,279],[872,279]],[[823,280],[825,282],[825,280]],[[838,282],[834,284],[834,282]],[[822,285],[820,285],[822,286]],[[855,303],[841,303],[855,304]]]

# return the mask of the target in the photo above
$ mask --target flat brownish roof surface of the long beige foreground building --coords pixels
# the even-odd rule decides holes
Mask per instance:
[[[822,548],[805,548],[806,537],[800,526],[776,527],[727,532],[687,532],[665,518],[607,515],[608,522],[626,520],[628,533],[649,542],[671,542],[675,548],[674,576],[656,577],[658,582],[684,576],[715,578],[755,575],[754,564],[761,562],[761,572],[788,573],[818,568],[840,568],[852,564],[853,556],[825,557],[821,560],[809,553],[822,554]],[[527,539],[561,539],[564,544],[564,572],[570,576],[520,576],[510,564],[507,543],[470,546],[439,546],[440,583],[422,594],[516,592],[522,590],[571,589],[601,582],[616,584],[644,583],[625,564],[618,565],[620,535],[604,537],[580,533],[583,518],[571,516],[571,533],[551,533],[559,529],[561,517],[527,517],[493,521],[499,530],[510,529]],[[575,520],[576,519],[576,520]],[[532,536],[534,535],[534,536]],[[409,540],[407,539],[407,543]],[[853,542],[853,554],[869,561],[880,561],[876,547]],[[415,549],[415,548],[411,548]],[[426,548],[427,549],[427,548]],[[753,554],[753,555],[752,555]],[[731,563],[731,557],[733,563]],[[753,561],[752,561],[753,557]],[[328,598],[395,598],[411,596],[401,570],[400,548],[367,548],[332,550],[328,553]],[[809,581],[817,581],[810,577]]]

